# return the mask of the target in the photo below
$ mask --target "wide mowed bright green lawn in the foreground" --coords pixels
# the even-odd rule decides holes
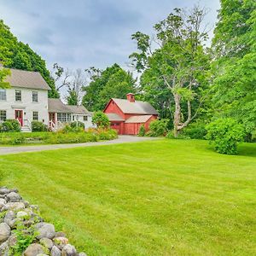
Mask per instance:
[[[0,169],[88,255],[256,254],[256,144],[63,149],[2,156]]]

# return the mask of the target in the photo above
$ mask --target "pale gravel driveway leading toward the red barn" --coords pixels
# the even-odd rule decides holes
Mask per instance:
[[[112,145],[120,143],[138,143],[144,141],[155,140],[153,137],[134,137],[122,135],[119,138],[112,141],[97,142],[97,143],[75,143],[75,144],[57,144],[57,145],[37,145],[37,146],[15,146],[15,147],[0,147],[0,155],[3,154],[18,154],[25,152],[38,152],[44,150],[54,150],[61,148],[79,148],[79,147],[91,147],[98,145]]]

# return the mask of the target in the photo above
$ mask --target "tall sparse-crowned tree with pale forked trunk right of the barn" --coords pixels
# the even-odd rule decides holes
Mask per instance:
[[[174,102],[167,111],[172,109],[175,137],[195,119],[204,99],[202,89],[207,85],[209,69],[209,57],[204,49],[207,32],[201,32],[204,16],[205,10],[199,7],[189,13],[174,9],[166,20],[154,26],[159,45],[154,50],[148,35],[142,32],[132,35],[138,51],[130,58],[137,71],[143,72],[143,85],[148,84],[153,88],[151,91],[163,86],[168,97],[163,104]]]

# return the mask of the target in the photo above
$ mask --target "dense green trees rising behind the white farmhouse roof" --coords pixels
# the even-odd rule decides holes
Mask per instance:
[[[9,27],[4,25],[3,20],[0,20],[0,61],[4,62],[5,67],[37,71],[41,73],[44,80],[51,88],[51,90],[49,90],[49,96],[59,96],[55,90],[55,81],[50,77],[45,61],[42,60],[42,58],[36,54],[28,44],[19,42],[10,32]]]

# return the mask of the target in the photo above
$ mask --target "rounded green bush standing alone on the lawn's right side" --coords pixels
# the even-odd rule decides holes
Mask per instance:
[[[207,125],[207,139],[221,154],[237,154],[237,143],[243,141],[244,126],[235,119],[217,119]]]

